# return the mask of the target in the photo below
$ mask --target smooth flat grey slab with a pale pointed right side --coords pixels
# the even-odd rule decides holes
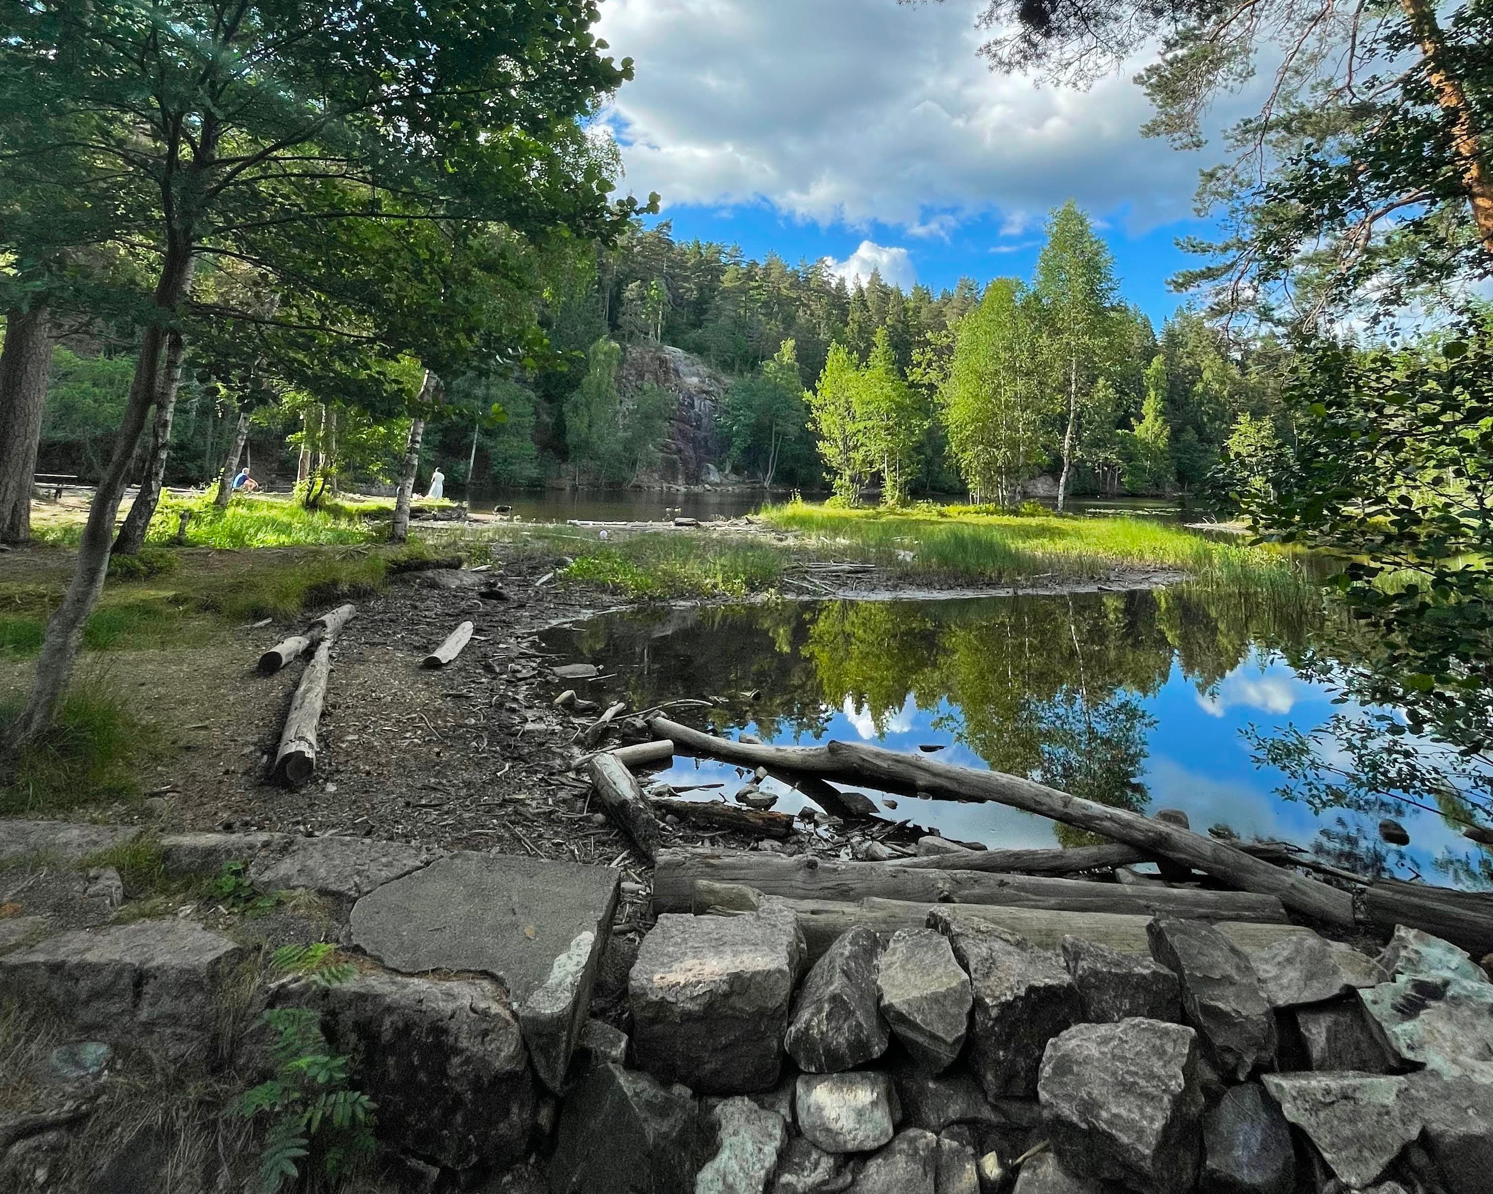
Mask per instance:
[[[508,991],[534,1073],[564,1085],[617,907],[617,872],[460,852],[352,907],[352,943],[393,970],[491,975]]]

